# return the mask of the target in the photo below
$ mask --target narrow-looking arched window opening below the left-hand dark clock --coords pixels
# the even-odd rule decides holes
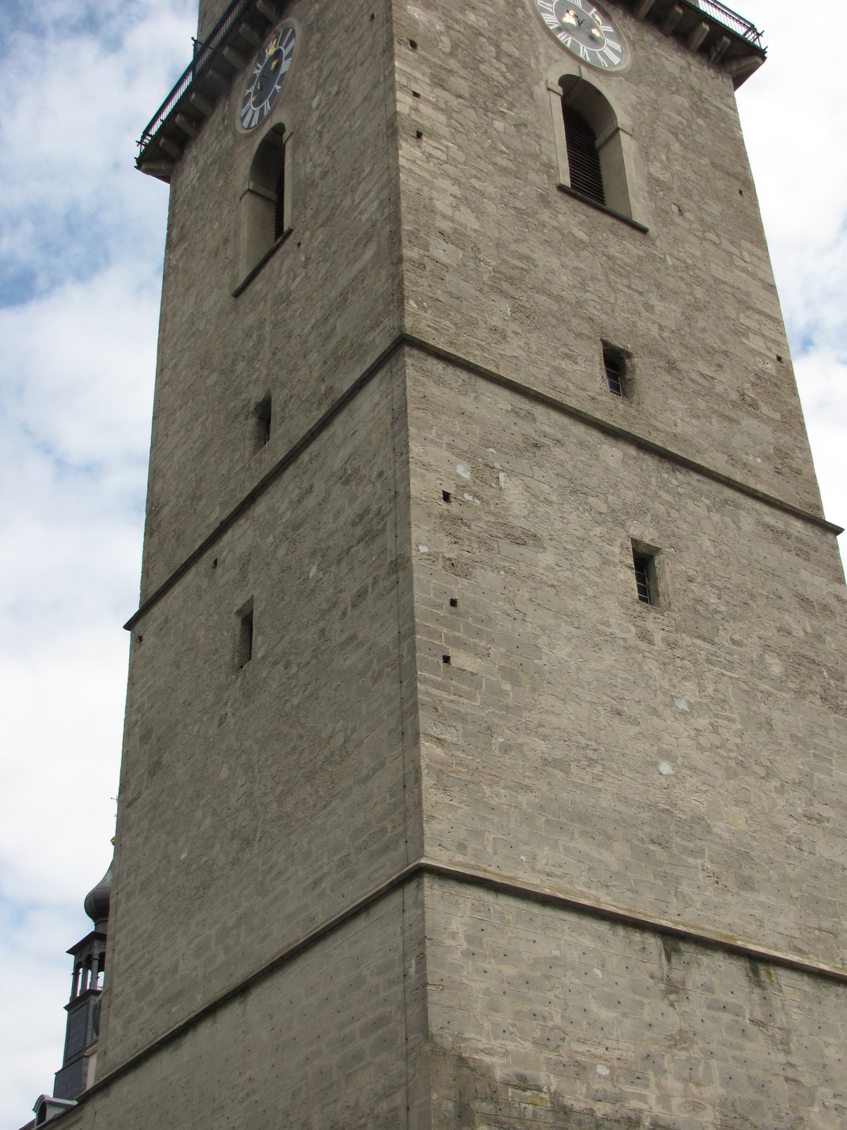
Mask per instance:
[[[262,139],[250,166],[242,195],[241,276],[245,286],[291,228],[289,144],[285,127],[274,125]],[[238,290],[236,293],[238,293]]]

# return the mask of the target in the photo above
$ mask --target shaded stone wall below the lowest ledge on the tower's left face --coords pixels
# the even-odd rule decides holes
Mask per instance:
[[[93,1094],[64,1130],[400,1130],[429,1116],[420,885]],[[410,972],[411,971],[411,972]]]

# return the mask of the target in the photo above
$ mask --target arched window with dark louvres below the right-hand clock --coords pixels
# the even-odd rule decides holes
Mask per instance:
[[[578,75],[550,80],[549,88],[559,186],[646,231],[632,215],[627,167],[632,159],[632,138],[621,127],[609,99]]]

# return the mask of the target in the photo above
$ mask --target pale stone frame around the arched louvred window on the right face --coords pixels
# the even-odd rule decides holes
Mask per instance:
[[[558,188],[585,203],[622,219],[641,232],[647,231],[648,208],[638,172],[638,151],[628,115],[609,87],[588,68],[574,62],[561,64],[548,75],[550,112],[553,121],[556,156],[559,166]],[[594,96],[592,98],[592,95]],[[596,95],[600,95],[597,98]],[[565,104],[573,105],[592,125],[596,136],[597,155],[603,174],[605,205],[575,191],[570,184],[568,145],[565,133]]]

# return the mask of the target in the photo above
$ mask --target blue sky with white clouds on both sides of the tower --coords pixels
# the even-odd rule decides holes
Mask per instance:
[[[795,0],[737,5],[769,47],[737,101],[826,513],[847,524],[847,81],[807,64]],[[847,6],[815,11],[847,42]],[[134,142],[195,20],[197,0],[0,0],[0,1130],[52,1089],[64,950],[111,858],[167,210]]]

